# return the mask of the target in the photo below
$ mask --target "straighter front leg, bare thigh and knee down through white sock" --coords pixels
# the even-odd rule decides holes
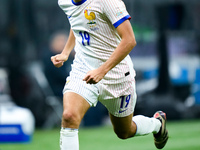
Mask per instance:
[[[82,96],[74,92],[64,94],[60,131],[61,150],[79,150],[78,128],[89,108],[89,103]]]

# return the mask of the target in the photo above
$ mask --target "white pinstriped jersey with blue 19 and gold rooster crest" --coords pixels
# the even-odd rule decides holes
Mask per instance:
[[[88,69],[86,72],[98,68],[109,59],[121,41],[116,27],[130,18],[123,1],[82,0],[75,3],[73,0],[58,0],[58,4],[68,16],[76,38],[75,59],[80,57],[82,64]],[[128,88],[132,85],[134,76],[135,71],[128,55],[100,83],[104,86],[115,84],[116,88],[125,92],[117,93],[117,97],[130,93]],[[119,84],[123,86],[119,87]]]

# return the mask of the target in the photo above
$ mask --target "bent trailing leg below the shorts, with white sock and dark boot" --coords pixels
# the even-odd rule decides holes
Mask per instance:
[[[133,136],[153,133],[155,146],[158,149],[162,149],[168,140],[166,114],[158,111],[152,118],[142,115],[132,116],[131,114],[126,117],[116,117],[110,114],[110,119],[117,136],[121,139],[127,139]]]

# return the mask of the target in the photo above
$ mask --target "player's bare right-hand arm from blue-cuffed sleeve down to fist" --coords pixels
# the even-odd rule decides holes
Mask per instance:
[[[110,58],[98,69],[89,71],[83,79],[86,83],[99,82],[106,73],[120,63],[135,47],[136,40],[129,20],[124,21],[117,28],[117,32],[121,37],[121,42]]]

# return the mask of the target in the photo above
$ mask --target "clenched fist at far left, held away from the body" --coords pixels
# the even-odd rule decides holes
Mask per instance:
[[[67,59],[68,59],[68,56],[66,56],[64,54],[57,54],[57,55],[51,57],[52,63],[57,68],[63,66],[64,62],[67,61]]]

